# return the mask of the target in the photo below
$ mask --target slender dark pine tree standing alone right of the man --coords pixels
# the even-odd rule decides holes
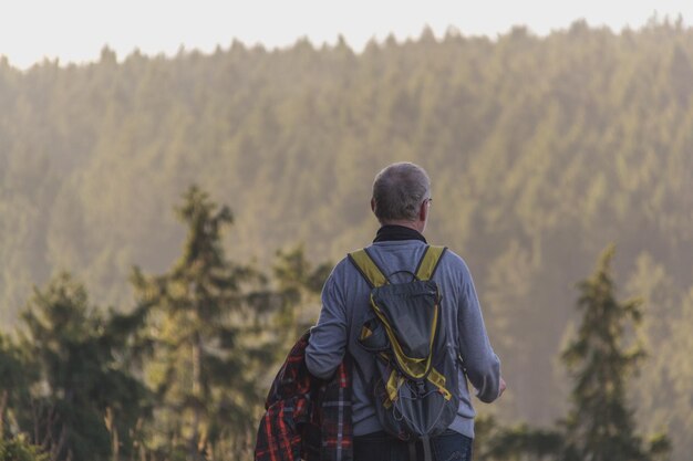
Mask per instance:
[[[566,461],[639,461],[663,454],[660,439],[647,450],[635,432],[627,402],[627,384],[644,356],[639,345],[625,344],[627,322],[638,325],[639,302],[618,301],[611,272],[614,248],[607,248],[596,272],[579,284],[583,312],[578,337],[562,354],[575,386],[566,423]]]

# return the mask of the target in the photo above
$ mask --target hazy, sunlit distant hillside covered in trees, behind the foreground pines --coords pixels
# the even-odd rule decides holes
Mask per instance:
[[[235,42],[118,61],[106,48],[81,66],[0,61],[0,107],[4,332],[62,270],[96,305],[136,312],[132,266],[174,264],[185,233],[170,210],[192,184],[230,207],[234,260],[268,270],[302,243],[318,265],[371,240],[373,176],[412,160],[433,180],[428,240],[469,264],[504,364],[507,399],[482,411],[534,425],[566,413],[575,284],[614,242],[617,286],[643,301],[637,423],[669,429],[675,460],[693,449],[693,30],[681,23],[424,31],[359,54]]]

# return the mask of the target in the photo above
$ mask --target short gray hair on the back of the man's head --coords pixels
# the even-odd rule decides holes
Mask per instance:
[[[408,161],[392,164],[375,176],[373,200],[379,221],[418,218],[421,203],[430,198],[431,179],[418,165]]]

